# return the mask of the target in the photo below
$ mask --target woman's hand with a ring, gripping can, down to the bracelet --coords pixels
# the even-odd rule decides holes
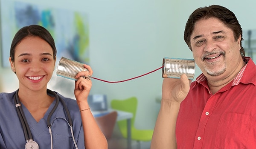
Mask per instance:
[[[76,78],[78,80],[75,81],[74,93],[79,106],[80,106],[80,103],[87,104],[87,97],[92,87],[92,81],[90,79],[86,79],[85,76],[89,76],[89,75],[92,76],[93,70],[89,65],[86,65],[86,64],[84,64],[84,68],[86,68],[87,71],[79,72],[78,74],[76,74]]]

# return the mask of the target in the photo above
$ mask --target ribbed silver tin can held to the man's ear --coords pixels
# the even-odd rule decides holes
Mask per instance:
[[[162,77],[180,78],[186,74],[190,80],[195,75],[195,60],[181,58],[163,58]]]

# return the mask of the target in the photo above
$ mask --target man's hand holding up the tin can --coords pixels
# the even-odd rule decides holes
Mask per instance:
[[[181,75],[180,79],[164,78],[162,100],[180,103],[188,95],[190,83],[186,74]]]

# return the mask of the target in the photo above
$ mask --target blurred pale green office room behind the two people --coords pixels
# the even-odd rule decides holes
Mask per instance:
[[[40,24],[55,39],[57,61],[67,57],[93,69],[90,106],[109,149],[149,149],[160,109],[164,57],[189,58],[183,40],[189,15],[198,7],[222,5],[244,31],[246,56],[256,62],[256,9],[244,0],[0,0],[0,92],[13,92],[11,40],[23,26]],[[153,70],[156,70],[150,74]],[[134,78],[142,74],[142,77]],[[201,74],[196,66],[195,78]],[[106,80],[106,81],[102,81]],[[128,80],[123,81],[122,80]],[[119,82],[120,81],[120,82]],[[48,85],[66,97],[74,81],[53,74]]]

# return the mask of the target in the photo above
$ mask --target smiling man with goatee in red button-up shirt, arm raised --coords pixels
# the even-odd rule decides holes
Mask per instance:
[[[151,149],[255,149],[256,65],[235,14],[196,9],[184,40],[203,73],[191,85],[185,74],[164,78]]]

